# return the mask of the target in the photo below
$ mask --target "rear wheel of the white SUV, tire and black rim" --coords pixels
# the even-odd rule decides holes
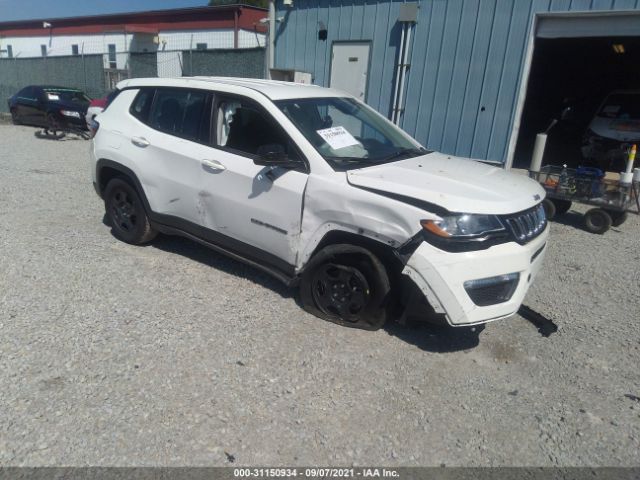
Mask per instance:
[[[147,243],[157,235],[136,189],[124,178],[114,178],[104,193],[104,205],[114,237],[132,245]]]

